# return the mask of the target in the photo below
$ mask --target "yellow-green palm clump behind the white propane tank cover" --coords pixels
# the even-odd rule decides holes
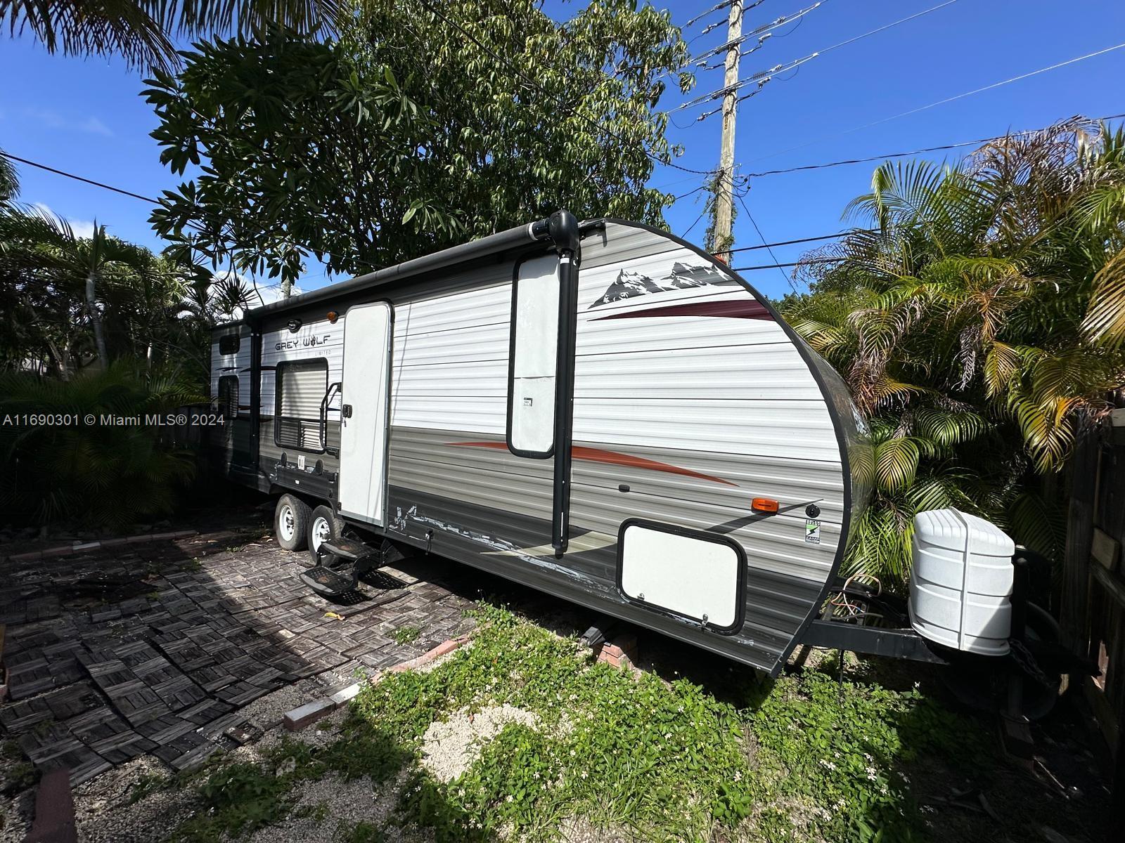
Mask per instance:
[[[864,228],[785,302],[872,422],[853,569],[901,582],[912,516],[943,506],[1058,552],[1056,472],[1125,383],[1123,149],[1076,120],[958,169],[884,164],[848,208]]]

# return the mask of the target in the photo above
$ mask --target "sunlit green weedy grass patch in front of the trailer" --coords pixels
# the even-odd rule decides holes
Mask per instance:
[[[810,670],[772,687],[748,680],[720,701],[685,679],[593,662],[506,609],[485,607],[479,620],[474,646],[438,668],[364,688],[335,743],[285,741],[266,764],[212,772],[198,785],[207,810],[180,839],[278,822],[302,780],[334,772],[396,782],[390,822],[439,843],[556,840],[574,818],[652,841],[924,840],[911,763],[970,763],[987,743],[917,688],[839,686]],[[505,726],[451,782],[421,767],[432,723],[503,704],[533,713],[534,726]],[[338,836],[385,832],[360,823]]]

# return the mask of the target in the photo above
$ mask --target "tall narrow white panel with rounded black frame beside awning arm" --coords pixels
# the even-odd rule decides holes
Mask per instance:
[[[507,446],[518,456],[555,451],[555,372],[558,357],[559,259],[519,264],[512,284],[507,382]]]

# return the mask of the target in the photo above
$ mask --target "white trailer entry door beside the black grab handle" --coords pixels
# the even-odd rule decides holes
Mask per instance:
[[[340,426],[340,514],[386,525],[390,305],[348,308]]]

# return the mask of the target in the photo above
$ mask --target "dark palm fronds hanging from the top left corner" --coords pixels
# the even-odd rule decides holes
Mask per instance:
[[[48,53],[120,55],[132,66],[170,71],[173,38],[249,35],[267,24],[331,31],[348,8],[340,0],[0,0],[0,24],[11,35],[30,30]]]

